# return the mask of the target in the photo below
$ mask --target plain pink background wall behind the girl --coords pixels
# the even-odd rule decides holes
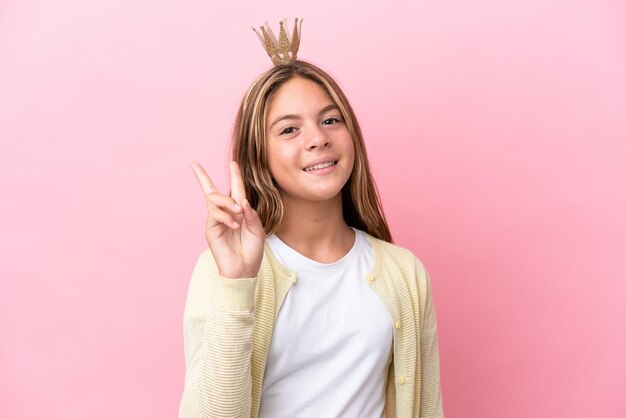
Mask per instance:
[[[431,272],[446,416],[625,417],[626,5],[220,3],[0,4],[0,416],[176,416],[189,162],[226,190],[250,27],[302,16]]]

